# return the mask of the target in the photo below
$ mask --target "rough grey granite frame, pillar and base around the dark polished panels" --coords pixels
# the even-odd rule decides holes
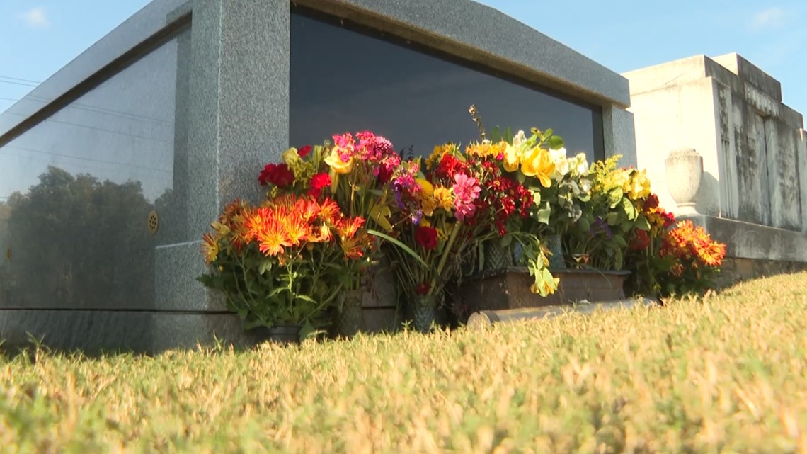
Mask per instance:
[[[515,19],[469,0],[300,4],[601,106],[606,154],[621,153],[626,163],[635,162],[633,118],[624,110],[629,103],[625,78]],[[11,135],[21,120],[31,115],[47,120],[36,113],[40,108],[53,108],[53,99],[70,95],[91,74],[114,69],[116,59],[160,38],[166,27],[187,18],[191,10],[190,31],[172,44],[178,53],[170,95],[174,107],[169,118],[161,120],[170,124],[169,134],[161,140],[171,142],[172,159],[155,166],[143,156],[123,156],[125,162],[153,168],[141,178],[165,174],[169,181],[165,187],[170,187],[174,201],[159,213],[159,231],[169,239],[155,242],[146,252],[123,256],[132,266],[148,261],[153,272],[147,279],[151,293],[140,307],[115,310],[102,306],[54,310],[70,309],[54,305],[58,296],[19,308],[0,301],[0,338],[8,338],[8,345],[24,343],[26,332],[44,337],[45,343],[52,340],[55,347],[90,351],[192,347],[211,342],[214,334],[233,343],[246,342],[220,296],[196,281],[204,271],[198,240],[224,204],[236,197],[260,196],[257,171],[276,161],[289,145],[289,2],[155,0],[35,90],[35,97],[0,116],[0,147],[14,139]],[[476,25],[468,27],[469,23]],[[145,229],[146,220],[142,221]],[[119,254],[114,245],[110,254]]]

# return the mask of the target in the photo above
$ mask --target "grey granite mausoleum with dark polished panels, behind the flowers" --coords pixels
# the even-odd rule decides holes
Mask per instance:
[[[627,79],[479,3],[155,0],[0,116],[0,338],[244,342],[196,281],[224,204],[332,133],[466,143],[472,103],[488,126],[637,163]]]

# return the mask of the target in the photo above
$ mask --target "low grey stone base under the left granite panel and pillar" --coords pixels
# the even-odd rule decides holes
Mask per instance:
[[[0,309],[4,350],[32,347],[29,333],[52,350],[87,355],[117,351],[154,355],[211,346],[216,338],[236,348],[255,345],[231,313]]]

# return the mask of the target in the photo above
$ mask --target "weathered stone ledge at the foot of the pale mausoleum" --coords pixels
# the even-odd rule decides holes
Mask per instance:
[[[724,242],[726,257],[807,263],[807,233],[713,216],[681,216]]]

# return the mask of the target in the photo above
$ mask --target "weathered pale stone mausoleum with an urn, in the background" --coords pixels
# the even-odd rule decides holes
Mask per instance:
[[[736,53],[623,75],[638,166],[726,243],[723,281],[807,269],[807,136],[780,83]]]

